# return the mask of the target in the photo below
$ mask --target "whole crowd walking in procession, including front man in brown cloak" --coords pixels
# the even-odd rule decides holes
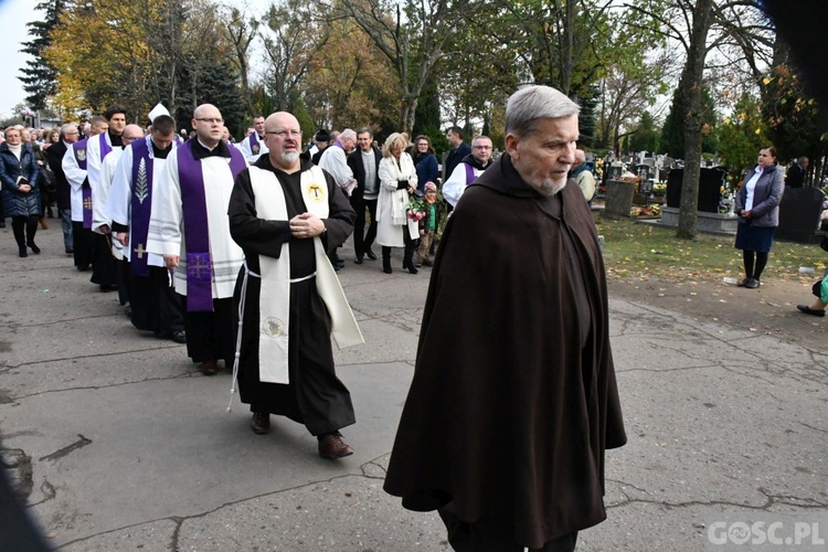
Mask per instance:
[[[507,107],[505,153],[493,160],[488,137],[469,146],[452,128],[440,173],[425,136],[395,132],[380,149],[369,128],[322,130],[302,148],[296,117],[275,113],[234,145],[204,104],[182,140],[162,107],[145,132],[114,105],[88,128],[62,126],[45,164],[77,269],[117,289],[137,328],[185,342],[204,375],[232,369],[254,433],[286,416],[327,459],[353,454],[340,431],[355,423],[332,341],[364,342],[337,250],[354,234],[357,264],[378,259],[376,244],[384,273],[394,247],[411,274],[433,265],[385,489],[406,508],[438,510],[457,550],[573,550],[577,531],[605,518],[604,450],[626,439],[597,236],[584,195],[566,187],[577,113],[553,88],[523,88]],[[3,193],[31,200],[40,166],[15,146],[19,134],[0,151],[20,169]],[[432,262],[444,178],[453,214]],[[30,203],[12,221],[34,251],[43,211]],[[510,288],[540,295],[502,293]],[[560,309],[550,317],[548,305]],[[492,309],[501,323],[490,323]],[[471,431],[476,418],[488,431]],[[489,432],[516,427],[532,428],[512,435],[520,446],[488,449]],[[492,469],[502,485],[491,485]],[[556,474],[572,476],[560,479],[565,488]]]

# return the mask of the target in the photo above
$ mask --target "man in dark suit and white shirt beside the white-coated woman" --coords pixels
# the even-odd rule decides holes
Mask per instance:
[[[351,192],[351,206],[357,211],[357,222],[353,225],[353,250],[358,265],[368,255],[371,261],[376,261],[376,255],[371,251],[371,245],[376,237],[376,198],[380,193],[380,159],[382,153],[373,146],[374,136],[371,129],[360,128],[357,131],[358,148],[348,156],[348,166],[357,179],[357,188]],[[365,208],[371,215],[371,224],[365,232]],[[364,236],[363,236],[364,234]]]

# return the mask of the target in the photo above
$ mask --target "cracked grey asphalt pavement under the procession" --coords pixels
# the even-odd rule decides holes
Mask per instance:
[[[382,491],[411,381],[429,269],[395,252],[339,273],[365,336],[337,351],[354,455],[302,426],[248,428],[230,375],[135,330],[62,253],[57,225],[20,259],[0,231],[0,460],[62,551],[445,551],[436,513]],[[495,267],[492,267],[493,269]],[[526,293],[514,290],[513,293]],[[580,551],[698,551],[728,512],[828,509],[828,355],[779,337],[611,295],[629,443],[607,454],[608,519]],[[496,322],[496,321],[492,321]],[[492,435],[492,446],[498,436]]]

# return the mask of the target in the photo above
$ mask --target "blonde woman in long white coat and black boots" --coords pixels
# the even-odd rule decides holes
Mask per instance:
[[[405,247],[403,268],[417,274],[414,248],[420,237],[417,221],[408,217],[408,194],[417,188],[414,161],[405,152],[408,140],[399,132],[382,146],[380,195],[376,200],[376,243],[382,245],[382,270],[391,274],[391,247]]]

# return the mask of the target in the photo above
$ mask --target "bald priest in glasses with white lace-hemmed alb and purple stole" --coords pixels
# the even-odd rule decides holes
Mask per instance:
[[[153,177],[147,231],[147,251],[174,269],[176,291],[185,301],[187,353],[204,375],[217,373],[221,359],[226,368],[233,363],[233,285],[243,262],[230,237],[227,203],[247,163],[222,140],[223,125],[215,106],[195,108],[195,137],[170,151]]]

